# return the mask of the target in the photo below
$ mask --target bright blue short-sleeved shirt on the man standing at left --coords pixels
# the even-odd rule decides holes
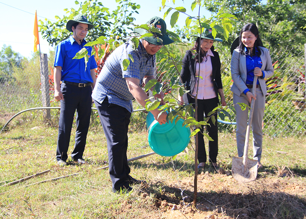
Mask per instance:
[[[83,40],[82,45],[86,41]],[[85,59],[72,59],[76,53],[79,52],[83,46],[79,45],[72,36],[60,42],[55,50],[54,66],[62,67],[62,80],[75,82],[75,83],[88,83],[93,82],[90,70],[97,68],[95,57],[91,55],[91,47],[85,46],[88,51],[89,60],[85,71]]]

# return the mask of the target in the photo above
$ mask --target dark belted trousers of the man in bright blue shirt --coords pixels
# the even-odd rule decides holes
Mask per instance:
[[[86,144],[90,115],[91,115],[91,86],[77,87],[62,83],[61,91],[64,100],[61,100],[61,112],[58,125],[58,144],[56,159],[66,161],[74,113],[76,111],[76,136],[72,159],[83,159]]]

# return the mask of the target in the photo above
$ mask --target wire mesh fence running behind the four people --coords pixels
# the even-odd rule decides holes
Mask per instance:
[[[233,103],[233,94],[230,87],[233,82],[230,75],[231,55],[229,50],[216,49],[220,55],[222,66],[223,90],[228,104]],[[274,76],[266,80],[267,97],[266,110],[263,120],[264,134],[276,136],[301,136],[306,135],[306,110],[305,110],[305,52],[304,47],[300,49],[285,48],[280,50],[270,49],[272,63],[274,63]],[[167,63],[157,63],[157,77],[163,82],[163,92],[177,96],[176,90],[169,87],[170,79],[177,75],[175,68],[167,68]],[[53,61],[49,60],[49,75],[52,76]],[[42,94],[40,82],[40,60],[39,56],[31,60],[24,60],[22,68],[15,68],[11,73],[10,80],[2,80],[0,86],[0,113],[1,123],[10,116],[24,109],[41,107]],[[50,106],[59,106],[52,101],[53,91],[50,90]],[[93,105],[94,107],[94,105]],[[134,102],[134,108],[142,108]],[[28,117],[36,118],[37,113],[28,113]],[[35,115],[36,114],[36,115]],[[131,127],[137,123],[143,123],[145,115],[140,112],[132,116]],[[95,115],[95,114],[93,114]],[[51,111],[51,120],[57,124],[58,110]],[[27,118],[29,121],[31,119]],[[145,119],[144,119],[145,120]],[[226,120],[229,122],[230,120]],[[232,122],[235,122],[234,115]],[[97,123],[95,123],[97,124]],[[218,123],[219,129],[234,131],[236,126]],[[145,129],[145,125],[142,126]]]

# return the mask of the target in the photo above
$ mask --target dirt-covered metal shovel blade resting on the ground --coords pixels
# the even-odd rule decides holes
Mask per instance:
[[[257,177],[257,160],[247,158],[243,165],[242,157],[233,157],[232,175],[238,183],[254,181]]]

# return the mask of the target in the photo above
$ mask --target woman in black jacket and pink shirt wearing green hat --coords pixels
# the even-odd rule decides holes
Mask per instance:
[[[183,58],[183,66],[181,70],[181,82],[185,84],[186,89],[190,90],[189,94],[196,96],[198,78],[199,90],[198,90],[198,121],[204,121],[204,113],[207,118],[208,113],[212,111],[219,104],[218,94],[221,97],[222,106],[226,106],[222,81],[221,81],[221,62],[219,54],[214,51],[213,43],[215,41],[222,42],[222,39],[214,38],[211,34],[211,30],[204,29],[201,35],[191,35],[197,37],[196,42],[192,50],[187,50]],[[200,60],[199,60],[200,51]],[[199,63],[200,63],[200,77],[199,75]],[[195,99],[188,93],[183,97],[179,96],[179,100],[182,103],[194,103]],[[217,121],[217,115],[215,115]],[[218,126],[214,124],[211,119],[207,127],[208,135],[214,140],[209,141],[209,162],[213,167],[217,167],[217,155],[218,155]],[[201,127],[201,133],[198,135],[198,161],[200,167],[205,167],[207,158],[205,151],[205,144],[203,138],[203,126]]]

